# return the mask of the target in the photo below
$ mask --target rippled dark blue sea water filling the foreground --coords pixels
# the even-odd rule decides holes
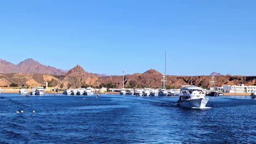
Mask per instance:
[[[256,100],[209,98],[0,94],[0,143],[255,143]]]

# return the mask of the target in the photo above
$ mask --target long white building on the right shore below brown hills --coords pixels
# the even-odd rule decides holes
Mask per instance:
[[[236,85],[223,85],[224,93],[251,93],[256,91],[256,86],[245,86],[244,84]]]

